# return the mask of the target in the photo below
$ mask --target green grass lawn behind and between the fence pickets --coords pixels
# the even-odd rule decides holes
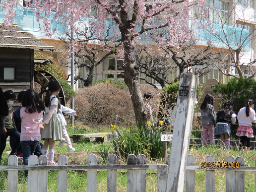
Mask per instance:
[[[92,133],[92,132],[110,132],[111,128],[79,128],[79,127],[68,127],[67,131],[71,137],[73,134],[82,134],[82,133]],[[68,148],[66,145],[58,147],[59,142],[55,144],[56,153],[67,153]],[[96,149],[102,149],[103,145],[110,145],[111,142],[107,143],[73,143],[73,147],[76,149],[75,153],[68,156],[69,164],[75,165],[85,165],[87,161],[87,156],[90,152],[95,152]],[[3,160],[0,165],[7,165],[8,154],[5,151],[9,151],[10,147],[6,145],[6,149],[3,153]],[[111,146],[109,152],[114,151]],[[77,158],[78,153],[76,152],[87,152],[87,155],[82,156],[82,158]],[[80,154],[80,153],[79,153]],[[82,154],[82,153],[81,153]],[[243,157],[245,159],[246,166],[255,166],[256,151],[252,150],[250,152],[239,152],[237,148],[232,148],[231,150],[222,150],[219,146],[209,146],[207,148],[196,147],[190,148],[189,154],[192,154],[195,157],[195,165],[201,165],[202,161],[205,161],[205,158],[208,155],[212,155],[216,162],[224,161],[227,156]],[[100,155],[98,157],[98,164],[102,164],[102,158]],[[126,164],[125,159],[119,159],[120,164]],[[147,160],[147,164],[164,164],[161,160],[150,161]],[[146,175],[146,191],[155,192],[156,191],[156,170],[147,170]],[[245,173],[245,182],[246,182],[246,192],[255,191],[255,173],[246,172]],[[99,170],[97,176],[97,188],[99,192],[107,191],[107,171]],[[117,191],[126,192],[127,186],[127,171],[118,170],[117,176]],[[68,171],[68,192],[85,192],[87,187],[87,174],[86,171]],[[2,192],[7,192],[7,172],[0,171],[0,189]],[[57,191],[57,171],[48,172],[48,191],[56,192]],[[204,192],[205,191],[205,171],[195,171],[195,191]],[[225,172],[216,171],[215,172],[215,191],[224,192],[225,191]],[[23,171],[19,171],[18,175],[18,192],[27,192],[27,182],[25,181]]]

